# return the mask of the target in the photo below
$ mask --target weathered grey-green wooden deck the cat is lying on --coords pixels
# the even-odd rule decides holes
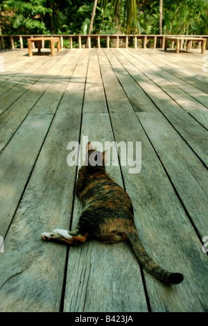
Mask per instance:
[[[204,55],[0,55],[0,311],[208,311]],[[183,273],[181,284],[166,286],[142,271],[128,243],[70,248],[42,241],[42,232],[78,222],[77,166],[67,165],[67,144],[82,144],[84,135],[103,144],[141,141],[140,173],[128,173],[129,166],[107,171],[132,198],[146,250]]]

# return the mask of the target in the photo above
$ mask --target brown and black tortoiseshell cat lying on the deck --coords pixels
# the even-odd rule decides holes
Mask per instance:
[[[78,228],[75,231],[55,229],[53,232],[43,232],[42,239],[70,245],[77,245],[90,238],[105,243],[128,240],[148,273],[166,284],[179,284],[183,275],[165,271],[144,249],[135,227],[132,200],[106,173],[105,156],[106,151],[96,151],[91,143],[87,143],[85,163],[78,171],[76,183],[76,194],[85,207]]]

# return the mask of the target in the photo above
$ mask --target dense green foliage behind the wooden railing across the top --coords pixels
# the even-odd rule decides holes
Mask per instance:
[[[0,0],[0,33],[87,34],[93,0]],[[92,33],[159,34],[159,0],[100,0]],[[208,0],[163,0],[164,34],[208,34]]]

